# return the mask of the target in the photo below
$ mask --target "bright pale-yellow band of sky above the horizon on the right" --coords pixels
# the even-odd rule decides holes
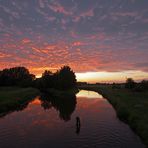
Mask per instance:
[[[77,81],[96,83],[96,82],[125,82],[129,77],[135,81],[141,81],[148,78],[148,73],[143,71],[121,71],[121,72],[85,72],[76,73]]]

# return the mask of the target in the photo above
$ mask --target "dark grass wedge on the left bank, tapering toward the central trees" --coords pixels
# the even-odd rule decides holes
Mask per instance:
[[[0,116],[17,110],[39,93],[34,88],[0,87]]]

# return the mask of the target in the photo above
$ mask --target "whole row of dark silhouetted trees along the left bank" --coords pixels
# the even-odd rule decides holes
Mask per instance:
[[[0,71],[0,86],[36,87],[39,89],[70,89],[76,86],[76,76],[69,66],[57,72],[45,70],[41,78],[36,78],[25,67],[13,67]]]

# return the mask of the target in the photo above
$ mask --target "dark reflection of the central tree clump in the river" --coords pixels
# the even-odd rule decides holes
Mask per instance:
[[[71,119],[71,115],[77,104],[76,95],[74,93],[68,96],[65,95],[54,98],[47,94],[42,94],[40,100],[41,106],[45,110],[54,107],[58,111],[60,119],[64,121],[69,121]]]

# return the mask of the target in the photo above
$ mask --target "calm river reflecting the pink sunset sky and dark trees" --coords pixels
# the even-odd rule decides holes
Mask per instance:
[[[80,124],[77,124],[79,117]],[[93,91],[36,97],[0,118],[0,148],[144,148],[113,107]]]

